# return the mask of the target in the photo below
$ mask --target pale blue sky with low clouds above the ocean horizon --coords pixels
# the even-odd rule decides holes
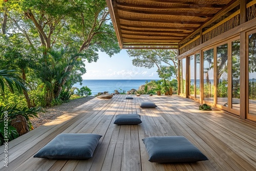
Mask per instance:
[[[86,63],[87,73],[83,79],[159,79],[157,68],[145,69],[135,67],[132,57],[126,50],[121,50],[111,58],[105,53],[99,52],[97,62]]]

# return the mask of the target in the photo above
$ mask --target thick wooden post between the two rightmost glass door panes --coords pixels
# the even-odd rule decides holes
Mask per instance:
[[[247,38],[246,32],[240,33],[240,118],[245,119],[248,108],[248,93],[247,93],[247,79],[248,79],[248,61],[247,61]]]

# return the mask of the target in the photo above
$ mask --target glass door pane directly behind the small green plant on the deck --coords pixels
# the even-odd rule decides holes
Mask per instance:
[[[214,49],[203,52],[204,94],[205,101],[214,103]]]

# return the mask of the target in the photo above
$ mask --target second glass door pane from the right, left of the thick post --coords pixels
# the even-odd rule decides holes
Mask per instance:
[[[232,104],[231,108],[240,110],[240,40],[232,41]]]

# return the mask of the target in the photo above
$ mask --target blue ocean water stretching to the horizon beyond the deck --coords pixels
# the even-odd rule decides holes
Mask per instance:
[[[115,93],[115,90],[119,92],[127,92],[131,89],[138,90],[146,81],[150,82],[151,79],[87,79],[82,81],[82,86],[78,82],[73,87],[80,89],[87,86],[92,90],[91,96],[94,96],[99,92]]]

